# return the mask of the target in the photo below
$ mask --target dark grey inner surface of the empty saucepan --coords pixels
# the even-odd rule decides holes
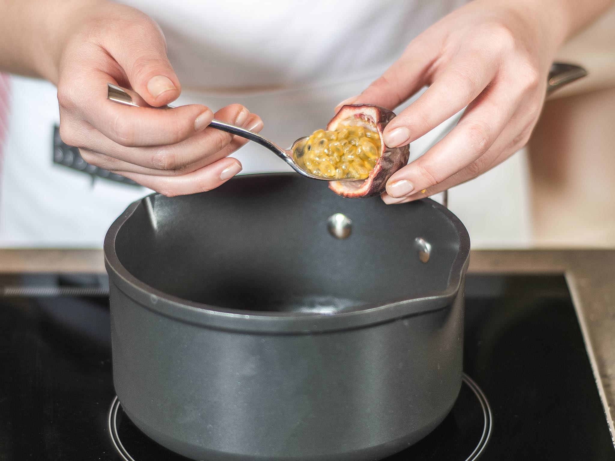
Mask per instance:
[[[342,199],[301,179],[245,176],[207,194],[151,195],[117,230],[117,259],[154,291],[226,310],[343,312],[456,288],[469,242],[448,210]],[[330,235],[334,213],[352,220],[350,237]],[[428,264],[415,237],[433,248]]]

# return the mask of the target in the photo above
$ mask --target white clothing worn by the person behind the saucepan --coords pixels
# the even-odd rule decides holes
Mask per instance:
[[[241,103],[264,121],[263,135],[289,145],[322,127],[339,101],[361,92],[408,42],[466,0],[236,0],[204,4],[129,0],[161,25],[182,84],[174,104],[214,111]],[[322,12],[321,16],[315,12]],[[0,246],[100,247],[109,225],[150,191],[94,179],[53,162],[59,122],[55,87],[14,76],[0,183]],[[405,104],[407,105],[407,104]],[[399,109],[398,109],[399,110]],[[415,141],[411,158],[441,135]],[[242,173],[286,171],[256,144],[233,157]],[[475,246],[520,245],[527,235],[523,159],[450,192],[451,209]],[[486,210],[489,210],[488,216]]]

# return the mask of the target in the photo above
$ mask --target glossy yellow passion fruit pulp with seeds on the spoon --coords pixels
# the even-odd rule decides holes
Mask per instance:
[[[335,131],[316,130],[296,162],[312,175],[324,178],[367,178],[380,157],[380,136],[374,125],[351,125],[355,123],[351,117]]]

